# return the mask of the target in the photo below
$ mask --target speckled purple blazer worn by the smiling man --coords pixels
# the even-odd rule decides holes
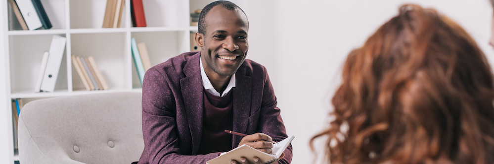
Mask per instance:
[[[205,164],[220,152],[197,155],[201,142],[204,87],[200,52],[180,54],[146,71],[142,84],[144,151],[139,164]],[[285,126],[266,68],[245,60],[233,88],[233,131],[263,132],[281,141]],[[242,139],[233,135],[231,148]],[[292,160],[292,146],[279,164]]]

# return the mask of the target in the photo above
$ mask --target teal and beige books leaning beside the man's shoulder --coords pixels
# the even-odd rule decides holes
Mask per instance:
[[[135,38],[131,40],[132,57],[134,58],[135,68],[137,69],[137,75],[139,76],[140,84],[144,80],[144,73],[147,69],[151,68],[151,60],[147,54],[146,43],[135,42]]]

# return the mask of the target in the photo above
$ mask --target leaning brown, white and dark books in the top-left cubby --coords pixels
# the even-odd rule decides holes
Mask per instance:
[[[51,29],[51,22],[40,0],[8,0],[22,30]]]

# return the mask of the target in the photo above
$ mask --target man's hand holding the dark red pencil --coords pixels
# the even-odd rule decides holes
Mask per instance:
[[[246,144],[254,149],[259,151],[271,154],[273,148],[273,139],[264,133],[254,133],[247,136],[244,136],[238,146],[242,146]]]

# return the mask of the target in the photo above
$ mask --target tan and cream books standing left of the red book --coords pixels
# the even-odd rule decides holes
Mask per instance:
[[[106,0],[103,28],[119,28],[125,0]]]

